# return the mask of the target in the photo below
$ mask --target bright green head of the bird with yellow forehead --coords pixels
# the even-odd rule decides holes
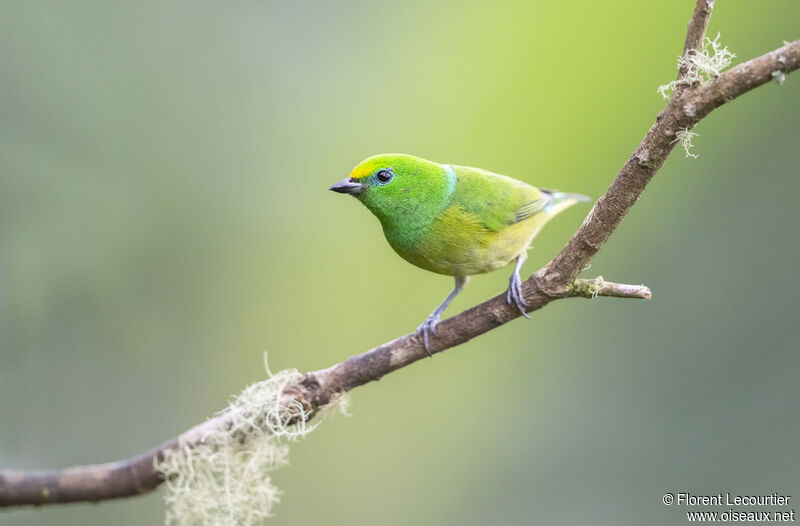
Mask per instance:
[[[454,186],[452,169],[412,155],[382,154],[361,161],[330,189],[355,196],[386,224],[439,209]]]

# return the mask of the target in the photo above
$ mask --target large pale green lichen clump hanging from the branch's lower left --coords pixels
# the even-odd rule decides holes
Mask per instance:
[[[219,413],[229,425],[209,431],[199,443],[167,451],[157,463],[166,486],[167,525],[246,526],[271,516],[281,491],[269,473],[288,464],[287,442],[317,424],[297,418],[309,416],[299,402],[294,407],[282,403],[284,389],[300,373],[272,374],[268,367],[267,373],[266,380],[247,387]],[[330,405],[344,409],[346,403],[339,396]]]

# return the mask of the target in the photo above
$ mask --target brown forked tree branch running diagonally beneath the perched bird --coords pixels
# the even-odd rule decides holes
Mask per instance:
[[[698,0],[689,22],[684,55],[691,49],[699,49],[712,6],[713,0]],[[577,279],[577,276],[664,164],[676,145],[678,132],[693,128],[719,106],[777,78],[776,72],[785,75],[798,68],[800,40],[739,64],[716,79],[676,90],[566,247],[523,282],[528,312],[568,297],[649,299],[650,290],[644,286],[609,283],[602,278]],[[685,72],[680,75],[683,74]],[[495,296],[443,321],[437,337],[431,341],[431,352],[441,352],[469,341],[519,316],[520,313],[506,303],[505,294]],[[377,380],[426,356],[415,334],[401,336],[327,369],[307,373],[284,390],[285,405],[299,403],[310,415],[307,418],[311,418],[338,393]],[[297,418],[302,418],[299,411]],[[179,444],[197,444],[208,430],[229,425],[225,416],[212,418],[148,452],[119,462],[56,471],[0,471],[0,506],[97,501],[146,493],[162,482],[154,463],[164,451]]]

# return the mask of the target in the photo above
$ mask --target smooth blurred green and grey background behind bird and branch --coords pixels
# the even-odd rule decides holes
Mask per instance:
[[[399,151],[597,197],[692,6],[3,2],[0,466],[128,457],[263,378],[265,350],[306,371],[413,330],[451,280],[328,185]],[[749,58],[798,19],[718,2],[709,32]],[[799,80],[701,123],[700,157],[673,154],[586,272],[652,301],[557,302],[359,388],[274,473],[273,523],[683,524],[665,492],[800,499]],[[162,513],[154,493],[0,522]]]

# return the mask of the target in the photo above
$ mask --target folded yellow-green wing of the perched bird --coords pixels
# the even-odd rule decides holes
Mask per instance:
[[[541,212],[552,196],[522,181],[479,168],[453,166],[457,182],[452,204],[498,231]]]

